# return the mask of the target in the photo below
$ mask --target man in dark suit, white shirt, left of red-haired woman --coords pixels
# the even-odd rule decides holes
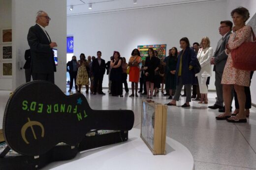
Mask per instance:
[[[105,95],[105,93],[102,92],[102,81],[106,71],[106,64],[105,60],[101,59],[100,51],[97,51],[97,58],[93,60],[91,69],[94,75],[94,95],[96,95],[97,87],[98,94]]]

